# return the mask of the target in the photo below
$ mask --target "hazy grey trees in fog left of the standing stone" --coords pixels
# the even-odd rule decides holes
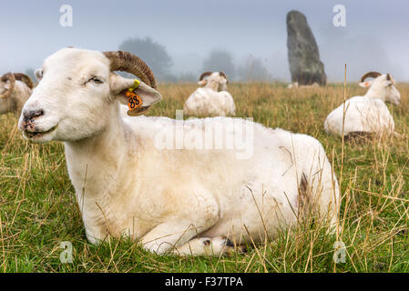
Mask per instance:
[[[155,76],[162,82],[197,82],[198,73],[184,72],[176,75],[172,73],[173,60],[165,45],[153,41],[150,37],[128,38],[119,47],[121,51],[128,51],[138,55],[152,69]],[[270,81],[271,74],[263,65],[261,58],[249,55],[244,62],[236,65],[230,52],[223,49],[213,49],[202,62],[202,72],[223,71],[230,80],[234,81]],[[200,72],[201,73],[201,72]],[[34,70],[29,68],[26,75],[35,78]],[[127,73],[121,73],[127,76]]]

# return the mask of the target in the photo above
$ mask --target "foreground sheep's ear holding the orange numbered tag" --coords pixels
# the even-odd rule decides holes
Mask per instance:
[[[109,88],[111,95],[117,98],[122,104],[128,105],[129,97],[127,96],[128,88],[134,85],[135,79],[124,78],[115,73],[109,75]],[[148,110],[151,105],[158,103],[162,100],[162,96],[157,90],[149,87],[143,82],[140,82],[134,93],[141,99],[141,105],[132,110],[132,114],[129,111],[128,115],[139,115]]]

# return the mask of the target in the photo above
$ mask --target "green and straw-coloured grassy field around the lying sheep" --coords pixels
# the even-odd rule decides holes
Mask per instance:
[[[175,117],[194,84],[160,85],[164,100],[149,115]],[[346,262],[332,260],[335,236],[301,225],[248,254],[156,256],[131,241],[87,243],[59,143],[31,145],[15,115],[0,116],[0,270],[4,272],[409,272],[409,85],[402,103],[388,105],[400,138],[346,142],[326,135],[323,121],[343,102],[343,85],[288,90],[281,84],[231,84],[237,116],[316,137],[343,193],[340,238]],[[347,86],[347,96],[365,89]],[[343,156],[342,156],[343,151]],[[62,264],[60,244],[74,246]]]

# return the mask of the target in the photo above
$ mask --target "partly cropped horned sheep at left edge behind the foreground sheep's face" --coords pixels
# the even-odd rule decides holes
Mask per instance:
[[[28,75],[6,73],[0,77],[0,115],[21,113],[21,108],[31,95],[33,82]]]

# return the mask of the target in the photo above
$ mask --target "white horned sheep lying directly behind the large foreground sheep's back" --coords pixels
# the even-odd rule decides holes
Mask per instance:
[[[236,115],[233,97],[227,92],[227,76],[223,72],[205,72],[200,75],[199,85],[183,107],[185,115],[228,116]]]

